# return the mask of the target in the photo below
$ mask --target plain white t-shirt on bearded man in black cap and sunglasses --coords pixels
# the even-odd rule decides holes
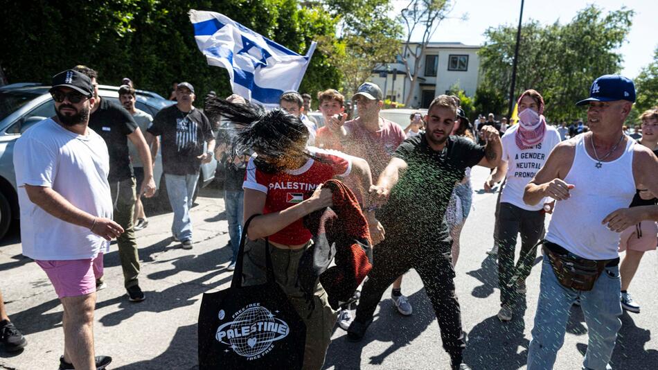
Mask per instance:
[[[112,218],[105,141],[94,130],[74,134],[51,118],[26,130],[14,146],[14,168],[21,209],[23,254],[35,260],[94,258],[109,242],[89,230],[55,218],[30,202],[25,184],[52,188],[73,206]]]

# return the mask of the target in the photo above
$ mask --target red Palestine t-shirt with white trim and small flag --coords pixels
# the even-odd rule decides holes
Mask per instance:
[[[308,151],[321,161],[311,158],[301,168],[281,173],[263,173],[256,168],[254,158],[249,159],[242,187],[267,194],[263,214],[283,211],[308,199],[318,185],[335,176],[345,177],[352,169],[352,161],[341,152],[314,147],[308,147]],[[311,237],[311,232],[304,227],[300,218],[269,236],[269,240],[285,245],[301,245]]]

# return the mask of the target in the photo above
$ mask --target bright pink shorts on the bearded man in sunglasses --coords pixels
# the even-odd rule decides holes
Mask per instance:
[[[78,297],[96,292],[96,279],[103,276],[103,254],[69,261],[36,260],[53,283],[57,297]]]

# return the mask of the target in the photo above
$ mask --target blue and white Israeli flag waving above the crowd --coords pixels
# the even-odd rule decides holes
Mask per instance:
[[[315,51],[299,55],[217,12],[190,10],[194,37],[208,64],[224,67],[233,94],[268,108],[278,107],[285,91],[299,89]]]

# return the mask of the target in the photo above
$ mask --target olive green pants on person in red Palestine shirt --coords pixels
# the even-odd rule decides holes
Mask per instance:
[[[274,268],[274,280],[281,286],[288,300],[294,306],[297,314],[306,324],[306,344],[304,349],[304,370],[320,370],[324,364],[327,349],[331,343],[331,333],[336,324],[336,313],[329,306],[327,292],[315,281],[314,310],[310,310],[304,298],[304,293],[299,287],[295,287],[297,279],[297,267],[299,259],[304,250],[311,245],[309,241],[306,247],[301,249],[279,249],[270,246],[272,256],[272,267]],[[257,285],[265,283],[265,248],[251,249],[247,243],[244,246],[244,260],[242,263],[243,285]],[[310,317],[309,317],[310,313]]]

